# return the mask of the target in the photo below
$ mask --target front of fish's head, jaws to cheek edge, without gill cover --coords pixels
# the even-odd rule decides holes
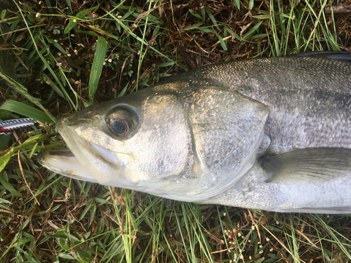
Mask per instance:
[[[183,107],[170,92],[140,90],[62,117],[56,130],[68,150],[45,151],[39,162],[59,174],[161,195],[192,163]]]

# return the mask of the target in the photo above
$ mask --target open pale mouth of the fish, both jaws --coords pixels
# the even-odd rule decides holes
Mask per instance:
[[[68,149],[43,151],[38,156],[39,163],[60,175],[88,182],[107,184],[120,178],[122,168],[117,154],[79,137],[67,122],[60,119],[56,130]]]

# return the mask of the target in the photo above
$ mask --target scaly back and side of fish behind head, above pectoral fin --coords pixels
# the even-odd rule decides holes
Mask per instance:
[[[181,77],[205,78],[272,107],[265,128],[271,154],[307,147],[351,148],[350,63],[263,58],[208,65]]]

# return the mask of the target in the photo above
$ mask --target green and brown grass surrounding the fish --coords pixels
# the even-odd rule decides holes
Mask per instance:
[[[170,201],[36,161],[65,147],[55,117],[229,58],[348,48],[350,16],[325,0],[79,3],[0,1],[0,119],[41,121],[0,135],[0,262],[350,261],[348,215]]]

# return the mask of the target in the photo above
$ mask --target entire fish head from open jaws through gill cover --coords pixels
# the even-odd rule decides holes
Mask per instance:
[[[201,201],[253,166],[268,112],[227,90],[147,88],[60,119],[69,150],[39,162],[79,180]]]

